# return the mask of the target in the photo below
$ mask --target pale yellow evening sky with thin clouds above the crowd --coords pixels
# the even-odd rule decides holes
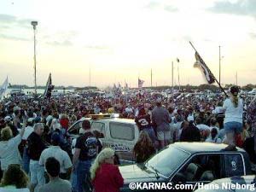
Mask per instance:
[[[32,20],[39,85],[172,85],[172,62],[204,84],[189,41],[217,79],[220,46],[221,84],[256,84],[255,0],[1,0],[0,84],[34,84]]]

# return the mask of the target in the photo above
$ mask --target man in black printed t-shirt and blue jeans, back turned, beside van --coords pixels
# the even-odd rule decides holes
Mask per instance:
[[[89,191],[90,166],[98,153],[98,142],[90,130],[90,121],[82,123],[84,134],[77,139],[73,154],[73,172],[77,174],[78,192]]]

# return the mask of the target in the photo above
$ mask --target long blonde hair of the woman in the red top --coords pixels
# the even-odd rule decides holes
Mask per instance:
[[[108,159],[111,158],[114,155],[114,151],[112,148],[104,148],[100,154],[96,156],[96,160],[90,166],[90,178],[93,180],[96,177],[96,172],[98,171],[99,167],[102,165],[102,163]]]

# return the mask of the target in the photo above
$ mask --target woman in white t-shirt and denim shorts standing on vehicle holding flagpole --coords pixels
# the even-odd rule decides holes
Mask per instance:
[[[224,101],[225,110],[224,130],[226,133],[226,149],[236,148],[236,134],[242,131],[242,99],[238,97],[239,88],[234,85],[230,87],[230,97]]]

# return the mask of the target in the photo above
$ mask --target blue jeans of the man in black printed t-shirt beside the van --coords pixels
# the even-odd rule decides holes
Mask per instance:
[[[92,160],[79,160],[76,167],[78,192],[90,191],[90,183],[88,183],[88,178],[90,178],[91,162]]]

